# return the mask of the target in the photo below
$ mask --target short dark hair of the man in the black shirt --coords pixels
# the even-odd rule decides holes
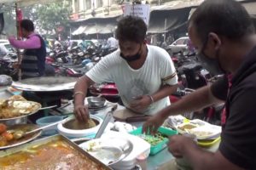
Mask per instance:
[[[201,42],[207,40],[210,32],[232,40],[254,34],[247,10],[235,0],[206,0],[189,19],[191,26],[195,26]]]

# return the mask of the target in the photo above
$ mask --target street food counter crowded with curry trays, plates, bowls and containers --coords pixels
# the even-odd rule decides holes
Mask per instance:
[[[20,1],[21,2],[21,1]],[[24,3],[26,1],[22,1]],[[32,1],[27,1],[32,3]],[[49,1],[48,1],[49,2]],[[189,165],[175,160],[168,151],[168,137],[192,135],[206,150],[216,150],[221,128],[200,120],[171,116],[156,135],[142,133],[149,116],[138,115],[102,97],[86,98],[90,119],[78,122],[73,116],[73,101],[65,107],[57,102],[69,98],[76,78],[38,77],[13,82],[18,93],[33,94],[36,99],[14,95],[9,87],[0,91],[0,167],[3,169],[181,169]],[[93,105],[99,104],[100,105]],[[39,111],[43,119],[59,116],[52,122],[28,121]],[[46,112],[44,112],[46,113]],[[49,131],[51,133],[49,133]],[[50,156],[50,159],[49,159]]]

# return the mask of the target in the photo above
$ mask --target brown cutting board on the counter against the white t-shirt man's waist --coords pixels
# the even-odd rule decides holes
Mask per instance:
[[[122,109],[113,112],[113,118],[120,122],[144,122],[148,120],[150,116],[138,114],[129,109]]]

